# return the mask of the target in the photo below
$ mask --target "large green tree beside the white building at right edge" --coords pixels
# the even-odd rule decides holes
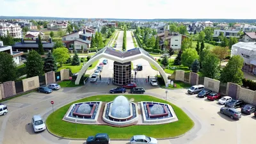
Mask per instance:
[[[228,61],[228,64],[225,68],[223,68],[223,71],[221,72],[221,82],[223,83],[237,83],[242,84],[243,79],[243,67],[244,60],[241,58],[241,56],[232,56],[230,60]]]

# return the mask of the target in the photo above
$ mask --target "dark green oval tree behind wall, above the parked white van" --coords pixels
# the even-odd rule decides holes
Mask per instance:
[[[218,79],[220,77],[219,58],[215,54],[209,52],[204,56],[204,61],[202,61],[202,73],[204,77],[211,79]]]

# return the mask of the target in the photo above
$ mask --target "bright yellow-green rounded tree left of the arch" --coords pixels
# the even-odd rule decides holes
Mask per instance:
[[[52,55],[54,56],[55,60],[60,63],[60,67],[62,67],[62,63],[65,63],[70,57],[66,47],[58,47],[54,49]]]

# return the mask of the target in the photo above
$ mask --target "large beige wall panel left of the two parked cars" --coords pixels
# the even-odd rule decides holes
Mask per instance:
[[[40,86],[39,77],[35,76],[35,77],[30,77],[28,79],[22,79],[22,84],[23,84],[24,92],[38,88]]]

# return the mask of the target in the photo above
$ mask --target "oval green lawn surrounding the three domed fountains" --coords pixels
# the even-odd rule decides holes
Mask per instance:
[[[74,123],[65,122],[62,120],[65,113],[67,113],[68,108],[71,104],[77,102],[86,102],[86,101],[103,101],[109,102],[114,100],[116,95],[97,95],[93,97],[88,97],[75,102],[71,102],[63,106],[60,109],[51,113],[46,120],[46,125],[49,131],[52,133],[65,137],[65,138],[87,138],[88,136],[93,136],[98,132],[108,133],[111,139],[129,139],[131,136],[136,134],[145,134],[147,136],[152,136],[154,138],[168,138],[174,136],[180,136],[185,132],[188,132],[192,129],[194,123],[189,118],[182,109],[171,104],[174,109],[179,121],[172,122],[169,124],[160,124],[160,125],[133,125],[129,127],[110,127],[108,125],[86,125],[86,124],[77,124],[77,134],[75,134],[76,128]],[[154,101],[154,102],[166,102],[165,100],[157,99],[156,97],[151,97],[148,95],[125,95],[127,99],[134,99],[134,102],[140,101]]]

